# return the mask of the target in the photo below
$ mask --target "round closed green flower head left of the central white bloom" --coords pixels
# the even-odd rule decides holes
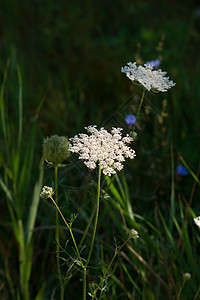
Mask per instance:
[[[54,166],[62,166],[62,162],[69,156],[69,141],[65,136],[57,134],[47,137],[43,142],[45,160]]]

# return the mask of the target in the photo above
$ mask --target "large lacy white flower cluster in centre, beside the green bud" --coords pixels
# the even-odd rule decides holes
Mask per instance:
[[[85,127],[88,134],[79,134],[71,138],[69,151],[79,154],[79,159],[84,160],[84,164],[89,169],[95,169],[100,165],[105,175],[116,174],[116,170],[123,169],[125,158],[133,159],[135,151],[126,144],[133,141],[128,134],[122,137],[121,128],[112,128],[109,133],[103,127],[98,130],[97,126]]]

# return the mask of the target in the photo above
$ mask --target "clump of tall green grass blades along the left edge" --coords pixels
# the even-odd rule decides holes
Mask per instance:
[[[5,153],[3,156],[4,172],[0,177],[0,185],[4,191],[4,201],[9,211],[9,226],[18,245],[18,277],[19,288],[14,288],[14,278],[10,274],[11,262],[4,261],[6,265],[6,279],[11,287],[13,299],[31,299],[29,281],[32,269],[33,229],[35,226],[40,191],[43,182],[43,161],[38,168],[38,179],[31,187],[31,170],[34,163],[34,147],[36,136],[36,119],[30,128],[28,141],[23,140],[23,87],[19,67],[18,76],[18,126],[11,128],[12,118],[8,112],[8,98],[5,96],[9,61],[4,72],[1,85],[1,127],[2,142]],[[39,110],[37,111],[39,113]],[[38,299],[42,299],[42,296]]]

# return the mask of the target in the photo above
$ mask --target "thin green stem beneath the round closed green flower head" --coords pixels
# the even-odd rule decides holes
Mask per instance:
[[[55,166],[55,203],[58,203],[58,166]],[[60,269],[60,249],[59,249],[60,237],[59,237],[59,220],[58,210],[56,209],[56,260],[57,260],[57,271],[60,283],[60,300],[64,300],[64,286],[61,278]]]

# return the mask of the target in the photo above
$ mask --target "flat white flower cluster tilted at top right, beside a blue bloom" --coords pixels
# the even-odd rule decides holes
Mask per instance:
[[[128,66],[122,67],[121,72],[135,83],[139,83],[145,87],[148,91],[153,92],[166,92],[172,86],[175,86],[169,77],[166,77],[166,72],[161,69],[155,70],[153,66],[144,64],[143,66],[137,66],[136,62],[127,64]]]

